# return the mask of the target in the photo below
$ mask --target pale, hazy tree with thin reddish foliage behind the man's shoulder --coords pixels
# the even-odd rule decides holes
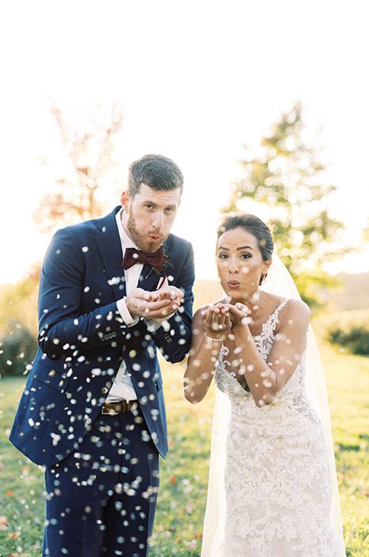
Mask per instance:
[[[56,178],[57,188],[45,196],[33,217],[42,233],[101,215],[97,189],[112,166],[113,138],[123,123],[123,112],[114,105],[106,118],[97,106],[86,129],[68,125],[55,105],[50,109],[70,162],[70,171]]]

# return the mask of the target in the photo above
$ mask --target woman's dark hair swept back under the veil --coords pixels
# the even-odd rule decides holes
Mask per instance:
[[[272,233],[270,232],[267,225],[254,214],[239,213],[230,214],[228,215],[228,217],[223,217],[223,219],[221,219],[221,222],[219,223],[219,227],[217,230],[217,240],[219,240],[219,237],[221,237],[221,235],[228,230],[234,230],[239,226],[240,228],[244,228],[244,230],[247,230],[247,232],[256,237],[262,260],[271,261],[274,249]],[[262,283],[265,276],[266,275],[262,275],[260,277],[259,284]]]

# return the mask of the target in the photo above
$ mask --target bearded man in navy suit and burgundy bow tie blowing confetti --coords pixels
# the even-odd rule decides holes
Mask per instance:
[[[157,348],[189,351],[194,260],[170,234],[183,176],[129,168],[121,207],[54,235],[40,279],[39,349],[10,441],[45,466],[44,557],[148,555],[166,456]]]

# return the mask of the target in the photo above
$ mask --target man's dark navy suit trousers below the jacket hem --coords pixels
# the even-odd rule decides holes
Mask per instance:
[[[42,557],[146,557],[159,453],[141,408],[99,414],[79,447],[45,470]]]

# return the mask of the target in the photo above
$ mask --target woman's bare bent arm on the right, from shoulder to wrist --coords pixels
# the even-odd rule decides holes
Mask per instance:
[[[241,348],[237,354],[240,372],[256,405],[271,404],[276,393],[292,377],[306,346],[309,317],[310,310],[303,301],[288,301],[281,311],[278,333],[266,362],[256,347],[249,326],[241,320],[233,326],[235,345]]]

